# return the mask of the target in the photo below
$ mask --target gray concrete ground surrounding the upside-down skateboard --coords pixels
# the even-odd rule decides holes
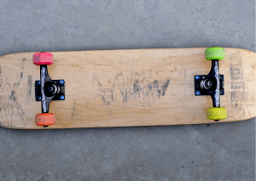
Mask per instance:
[[[255,50],[255,1],[11,1],[0,55],[233,47]],[[168,127],[0,128],[0,180],[255,180],[255,119]]]

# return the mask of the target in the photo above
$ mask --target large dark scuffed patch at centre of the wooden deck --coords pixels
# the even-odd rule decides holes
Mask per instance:
[[[170,79],[164,80],[152,80],[150,77],[143,77],[143,80],[139,77],[138,73],[125,76],[122,72],[119,72],[114,79],[105,77],[99,81],[96,74],[93,76],[93,82],[96,81],[102,101],[104,105],[111,105],[114,98],[120,95],[123,99],[123,105],[134,100],[140,104],[150,105],[155,99],[160,99],[161,96],[166,95],[166,90],[171,82]],[[119,78],[119,76],[122,76]],[[108,82],[108,84],[104,83]],[[117,92],[119,91],[119,93]]]

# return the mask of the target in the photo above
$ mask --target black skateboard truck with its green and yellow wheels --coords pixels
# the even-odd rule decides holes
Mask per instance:
[[[220,95],[224,95],[224,75],[219,75],[218,60],[224,59],[224,48],[207,48],[206,59],[212,60],[208,75],[195,75],[195,96],[210,95],[212,108],[207,110],[207,118],[218,122],[227,117],[226,109],[220,107]]]

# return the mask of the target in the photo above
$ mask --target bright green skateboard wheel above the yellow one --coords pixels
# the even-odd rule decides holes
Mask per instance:
[[[212,47],[207,48],[205,51],[206,59],[224,59],[225,58],[225,52],[224,48],[221,47]]]

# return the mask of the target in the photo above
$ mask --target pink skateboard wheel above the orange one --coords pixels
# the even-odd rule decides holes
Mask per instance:
[[[33,54],[34,65],[51,65],[53,63],[53,55],[47,52]]]

